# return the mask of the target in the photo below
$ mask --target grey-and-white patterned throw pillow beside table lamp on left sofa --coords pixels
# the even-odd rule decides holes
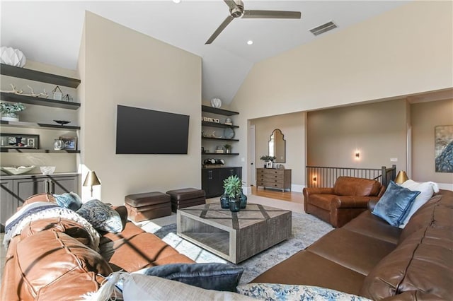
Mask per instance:
[[[122,231],[120,214],[99,200],[87,201],[76,212],[88,220],[98,231],[113,233]]]

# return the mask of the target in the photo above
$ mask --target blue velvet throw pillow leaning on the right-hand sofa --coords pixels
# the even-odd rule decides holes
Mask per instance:
[[[391,181],[372,213],[383,218],[390,225],[398,227],[403,223],[418,194],[420,191],[411,191]]]

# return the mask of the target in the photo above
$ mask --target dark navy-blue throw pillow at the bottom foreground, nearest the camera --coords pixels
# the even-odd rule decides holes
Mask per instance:
[[[206,290],[223,290],[236,292],[241,279],[243,267],[233,264],[164,264],[143,268],[134,273],[158,276],[173,281],[205,288]]]

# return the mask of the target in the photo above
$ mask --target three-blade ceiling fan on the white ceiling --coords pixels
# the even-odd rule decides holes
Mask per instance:
[[[205,45],[211,44],[215,38],[222,33],[222,30],[235,18],[273,18],[273,19],[300,19],[300,11],[246,11],[243,9],[242,0],[224,0],[229,7],[229,16],[214,31]]]

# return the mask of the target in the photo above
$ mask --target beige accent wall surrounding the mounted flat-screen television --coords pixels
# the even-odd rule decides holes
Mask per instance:
[[[102,200],[200,188],[200,57],[93,13],[85,18],[82,164],[101,178]],[[190,115],[188,155],[116,155],[117,105]]]

